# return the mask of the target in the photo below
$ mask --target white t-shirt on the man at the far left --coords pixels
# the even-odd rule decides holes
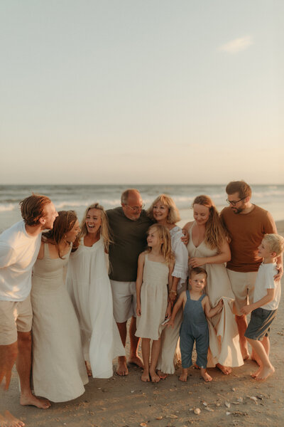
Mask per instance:
[[[31,273],[40,241],[41,233],[28,236],[23,221],[0,235],[0,300],[26,300],[31,292]]]

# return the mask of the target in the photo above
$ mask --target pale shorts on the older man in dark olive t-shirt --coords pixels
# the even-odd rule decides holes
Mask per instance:
[[[117,323],[124,323],[130,317],[136,317],[136,282],[111,280],[111,290],[114,302],[114,320]]]

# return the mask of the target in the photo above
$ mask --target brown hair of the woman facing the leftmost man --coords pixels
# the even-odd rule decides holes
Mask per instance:
[[[59,211],[53,223],[53,229],[43,233],[43,241],[55,245],[59,258],[62,258],[59,243],[64,239],[65,234],[72,230],[77,219],[75,211]]]

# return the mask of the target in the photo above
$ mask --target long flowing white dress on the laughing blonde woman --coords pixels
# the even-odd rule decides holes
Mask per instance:
[[[94,378],[109,378],[112,360],[126,353],[114,321],[102,236],[90,247],[82,239],[70,255],[67,290],[80,323],[84,359],[91,364]]]

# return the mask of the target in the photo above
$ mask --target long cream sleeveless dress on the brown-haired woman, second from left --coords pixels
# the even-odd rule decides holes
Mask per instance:
[[[50,258],[45,243],[43,259],[33,266],[33,390],[53,402],[77,398],[88,382],[79,324],[65,286],[69,255]]]

